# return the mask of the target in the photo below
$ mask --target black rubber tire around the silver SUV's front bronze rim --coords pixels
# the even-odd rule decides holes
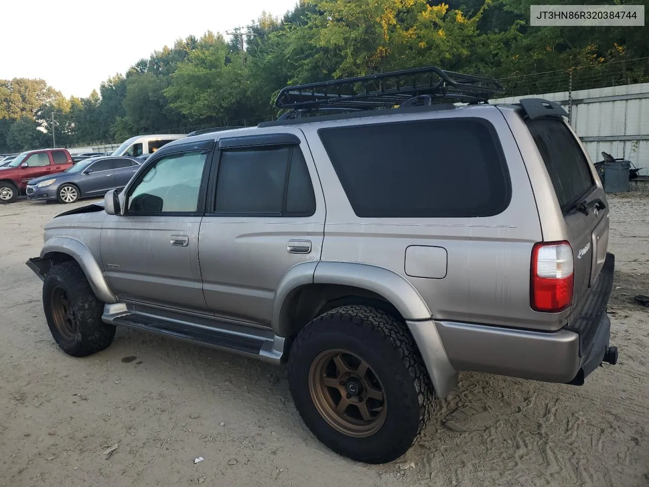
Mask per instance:
[[[71,335],[67,338],[58,329],[53,310],[52,295],[63,290],[75,317]],[[55,305],[56,306],[56,305]],[[43,282],[43,310],[47,326],[55,342],[72,356],[88,356],[112,343],[115,325],[101,321],[104,305],[93,293],[86,275],[77,262],[64,262],[53,266]]]

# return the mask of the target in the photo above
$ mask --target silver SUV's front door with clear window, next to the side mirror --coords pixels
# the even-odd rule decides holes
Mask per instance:
[[[101,260],[120,299],[208,311],[198,260],[208,155],[194,145],[149,162],[127,188],[123,214],[104,220]]]

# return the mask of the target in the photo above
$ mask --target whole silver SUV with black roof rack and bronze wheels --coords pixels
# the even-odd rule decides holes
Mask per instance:
[[[56,343],[119,325],[288,362],[315,436],[372,463],[458,371],[583,384],[617,361],[606,195],[561,106],[501,91],[437,68],[288,87],[276,121],[170,142],[47,223],[27,264]]]

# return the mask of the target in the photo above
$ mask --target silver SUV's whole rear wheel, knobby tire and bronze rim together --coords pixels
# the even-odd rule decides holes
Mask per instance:
[[[321,442],[373,464],[406,453],[435,405],[405,324],[368,306],[341,306],[306,325],[291,347],[289,385]]]

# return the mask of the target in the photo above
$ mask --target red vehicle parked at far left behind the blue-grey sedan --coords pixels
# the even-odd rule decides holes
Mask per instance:
[[[0,168],[0,203],[14,203],[19,194],[25,194],[30,179],[63,172],[72,164],[72,156],[67,149],[23,152]]]

